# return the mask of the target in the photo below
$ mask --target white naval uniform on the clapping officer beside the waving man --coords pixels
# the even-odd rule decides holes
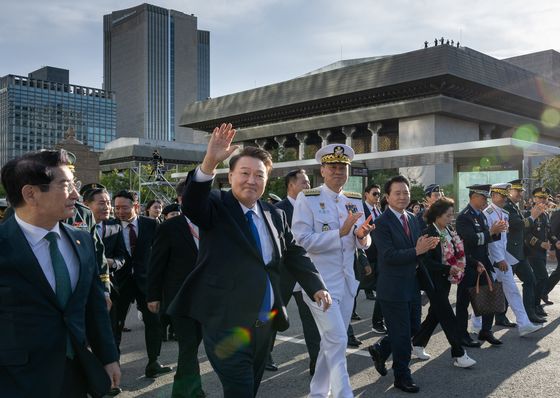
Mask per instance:
[[[363,213],[360,195],[336,193],[325,185],[300,192],[294,206],[294,238],[307,251],[333,299],[331,308],[323,312],[304,295],[321,335],[321,348],[310,385],[309,396],[313,398],[327,397],[329,388],[335,398],[354,396],[346,367],[346,332],[359,285],[354,275],[354,255],[356,248],[369,247],[371,237],[368,235],[364,244],[360,244],[354,229],[340,237],[339,228],[350,210]],[[355,226],[359,227],[364,221],[362,215]]]

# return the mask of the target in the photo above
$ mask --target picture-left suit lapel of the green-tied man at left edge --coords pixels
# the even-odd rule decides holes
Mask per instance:
[[[8,227],[6,235],[9,237],[9,239],[6,238],[5,242],[12,246],[13,261],[17,262],[15,268],[33,286],[37,286],[54,306],[60,308],[56,294],[45,277],[43,269],[39,265],[39,261],[37,261],[37,257],[35,257],[33,250],[31,250],[29,242],[27,242],[15,217],[10,217],[5,223]]]

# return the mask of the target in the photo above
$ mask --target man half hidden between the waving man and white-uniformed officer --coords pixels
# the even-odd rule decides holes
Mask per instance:
[[[276,207],[284,210],[286,218],[288,219],[288,225],[291,227],[296,198],[301,191],[310,188],[309,177],[307,176],[305,170],[297,169],[288,172],[286,177],[284,177],[284,182],[286,184],[287,196],[285,199],[276,203]],[[313,315],[311,315],[309,307],[303,301],[301,287],[299,287],[299,285],[296,287],[294,277],[285,268],[280,271],[280,289],[282,290],[282,299],[286,305],[290,301],[291,296],[294,296],[294,299],[296,300],[299,316],[301,318],[301,325],[303,327],[303,338],[305,340],[307,352],[309,353],[309,373],[313,376],[315,374],[315,364],[317,363],[319,346],[321,344],[319,330],[317,330],[317,325],[315,324],[315,320],[313,319]],[[274,345],[274,341],[272,344]],[[267,368],[267,370],[269,369]]]

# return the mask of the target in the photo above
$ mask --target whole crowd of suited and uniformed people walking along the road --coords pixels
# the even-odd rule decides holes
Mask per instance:
[[[346,347],[361,344],[350,324],[361,289],[375,300],[372,330],[381,336],[368,347],[373,366],[386,376],[392,355],[394,386],[410,393],[419,391],[411,357],[431,357],[438,324],[459,368],[477,364],[466,348],[502,344],[494,325],[523,337],[546,324],[543,305],[560,280],[560,267],[550,276],[546,269],[548,252],[560,251],[560,213],[551,212],[548,189],[534,189],[526,209],[522,180],[472,185],[458,209],[437,184],[411,203],[410,182],[399,175],[369,184],[362,196],[343,189],[354,151],[330,144],[315,156],[323,184],[311,188],[305,170],[293,170],[287,197],[271,204],[261,200],[270,154],[236,152],[234,136],[230,124],[217,127],[203,162],[177,185],[177,202],[152,200],[145,215],[132,191],[111,197],[100,184],[81,187],[64,150],[4,165],[12,211],[0,224],[0,315],[13,352],[0,367],[3,393],[118,395],[132,303],[144,323],[146,377],[173,371],[158,358],[163,339],[178,342],[172,397],[205,396],[201,343],[225,397],[255,396],[265,369],[278,369],[271,352],[276,332],[289,328],[292,296],[310,397],[353,396]],[[228,158],[231,190],[212,190]],[[505,312],[472,315],[469,329],[477,280],[501,282],[515,322]],[[423,321],[421,292],[430,303]]]

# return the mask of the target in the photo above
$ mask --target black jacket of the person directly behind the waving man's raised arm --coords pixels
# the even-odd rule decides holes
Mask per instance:
[[[184,215],[164,221],[156,231],[148,267],[147,298],[161,301],[161,312],[194,270],[198,248]]]

